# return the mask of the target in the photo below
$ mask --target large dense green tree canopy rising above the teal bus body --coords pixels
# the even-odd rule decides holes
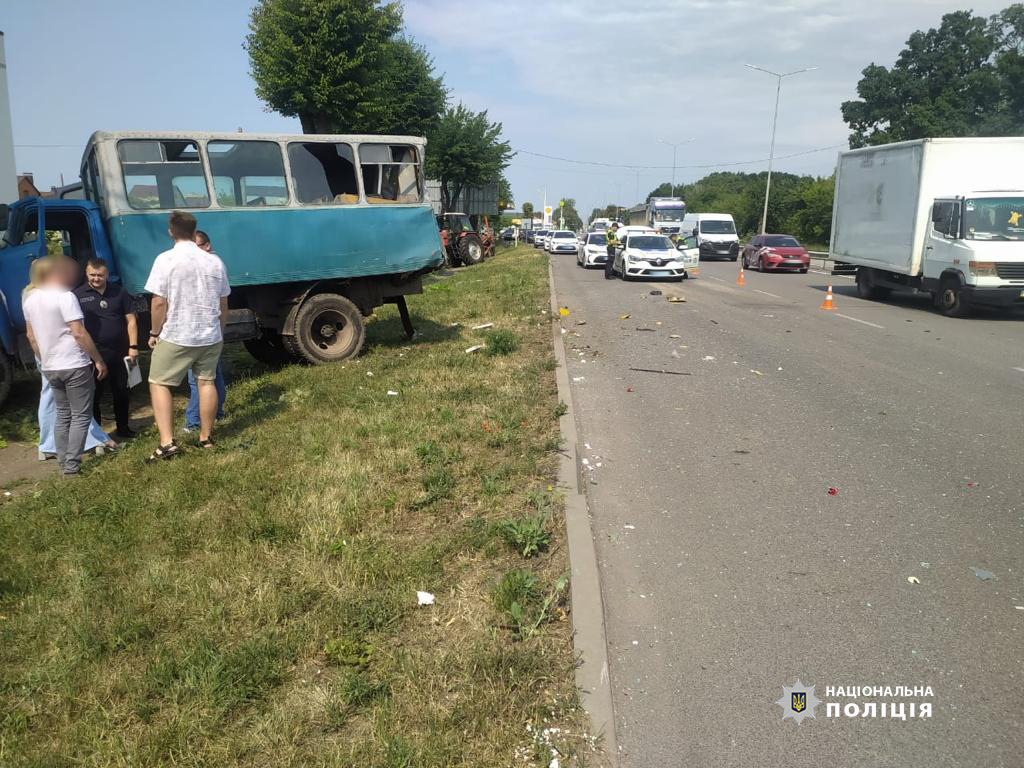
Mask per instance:
[[[447,93],[401,6],[377,0],[259,0],[246,50],[256,94],[306,133],[424,135]]]

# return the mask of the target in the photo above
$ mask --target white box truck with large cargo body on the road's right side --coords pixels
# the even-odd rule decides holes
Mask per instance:
[[[951,317],[1024,305],[1024,137],[841,153],[828,251],[862,298],[911,289]]]

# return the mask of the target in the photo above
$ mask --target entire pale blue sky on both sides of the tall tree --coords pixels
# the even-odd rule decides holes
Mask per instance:
[[[989,14],[1010,0],[977,0]],[[38,184],[71,181],[93,130],[298,132],[256,98],[242,47],[249,0],[5,0],[15,156]],[[410,34],[434,56],[455,100],[486,109],[522,151],[508,170],[518,203],[630,205],[678,181],[768,153],[774,71],[785,81],[777,155],[843,144],[840,103],[869,62],[890,65],[907,36],[964,7],[943,0],[409,0]],[[47,144],[58,146],[32,146]],[[428,147],[429,153],[429,147]],[[525,153],[663,170],[573,165]],[[827,174],[833,150],[779,160]],[[685,166],[710,165],[713,168]],[[764,162],[731,167],[757,171]]]

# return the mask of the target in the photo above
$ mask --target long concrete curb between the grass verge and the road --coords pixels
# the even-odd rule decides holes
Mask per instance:
[[[565,534],[568,542],[571,572],[572,646],[580,658],[575,683],[580,699],[590,716],[592,732],[603,738],[604,751],[612,768],[618,765],[615,740],[615,713],[612,707],[611,678],[608,674],[608,645],[604,630],[604,601],[601,578],[597,568],[597,549],[590,525],[587,497],[581,486],[580,441],[568,368],[565,364],[565,342],[555,294],[555,273],[548,262],[548,287],[551,292],[552,341],[555,352],[555,381],[558,399],[565,403],[565,413],[558,420],[563,450],[559,454],[558,486],[565,496]]]

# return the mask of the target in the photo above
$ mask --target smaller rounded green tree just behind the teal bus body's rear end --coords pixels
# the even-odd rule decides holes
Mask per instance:
[[[501,123],[461,103],[444,110],[429,139],[427,174],[440,182],[445,211],[467,186],[498,182],[514,154],[502,140]]]

